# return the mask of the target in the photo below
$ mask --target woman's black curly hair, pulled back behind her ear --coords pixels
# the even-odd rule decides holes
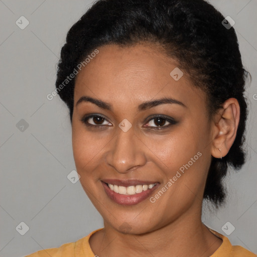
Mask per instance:
[[[244,87],[249,74],[242,66],[235,31],[222,25],[224,19],[204,0],[96,1],[67,33],[56,79],[56,89],[72,122],[76,76],[62,90],[59,87],[67,75],[97,47],[146,42],[161,46],[187,72],[193,85],[206,93],[209,117],[226,99],[236,98],[240,105],[236,138],[224,158],[212,157],[204,189],[203,198],[216,207],[225,199],[222,180],[229,166],[239,169],[245,161]]]

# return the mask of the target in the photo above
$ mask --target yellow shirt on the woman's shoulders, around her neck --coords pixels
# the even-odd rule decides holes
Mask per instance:
[[[39,250],[25,257],[95,257],[89,245],[89,237],[96,231],[96,229],[87,236],[80,238],[76,242],[65,243],[59,248],[49,248]],[[209,228],[210,229],[210,228]],[[242,246],[232,246],[228,238],[212,229],[210,231],[223,240],[220,247],[210,257],[256,257],[257,255],[246,250]]]

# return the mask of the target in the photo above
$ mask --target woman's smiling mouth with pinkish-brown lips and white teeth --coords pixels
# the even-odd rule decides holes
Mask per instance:
[[[120,205],[135,205],[148,198],[159,187],[158,182],[139,180],[101,181],[107,196]]]

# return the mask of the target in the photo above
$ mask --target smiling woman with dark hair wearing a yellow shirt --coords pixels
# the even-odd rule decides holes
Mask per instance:
[[[28,256],[256,256],[201,221],[240,168],[247,72],[203,0],[97,1],[67,34],[56,92],[104,227]]]

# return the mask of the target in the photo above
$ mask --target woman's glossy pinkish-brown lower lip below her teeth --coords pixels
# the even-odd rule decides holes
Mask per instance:
[[[118,194],[118,193],[115,193],[114,191],[110,190],[108,185],[106,185],[104,182],[102,182],[102,185],[103,185],[105,193],[109,196],[109,198],[111,200],[113,200],[115,203],[120,204],[120,205],[138,204],[138,203],[144,201],[146,198],[148,198],[152,194],[152,192],[158,187],[158,184],[157,184],[153,188],[143,191],[141,193],[135,194],[135,195],[122,195],[122,194]]]

